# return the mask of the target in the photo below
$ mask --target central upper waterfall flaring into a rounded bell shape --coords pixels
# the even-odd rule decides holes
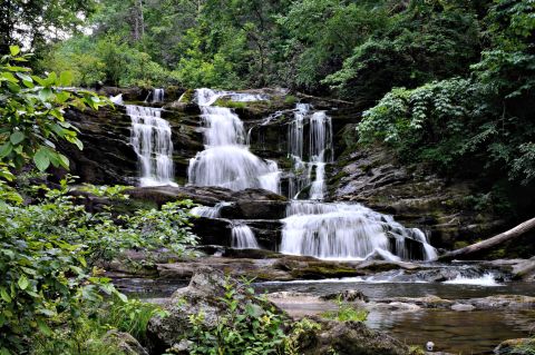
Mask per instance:
[[[189,161],[189,184],[233,190],[264,188],[279,193],[279,167],[249,150],[242,120],[230,108],[212,106],[228,92],[197,89],[205,150]]]

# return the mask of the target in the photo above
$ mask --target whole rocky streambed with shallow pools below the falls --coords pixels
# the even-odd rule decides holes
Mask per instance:
[[[207,267],[254,278],[256,292],[293,319],[321,318],[342,302],[369,312],[370,329],[409,345],[432,342],[436,351],[453,354],[490,354],[499,343],[529,337],[535,329],[535,284],[522,280],[518,269],[535,260],[340,263],[222,247],[212,252],[220,256],[162,259],[147,270],[150,276],[120,267],[110,275],[124,292],[165,304]]]

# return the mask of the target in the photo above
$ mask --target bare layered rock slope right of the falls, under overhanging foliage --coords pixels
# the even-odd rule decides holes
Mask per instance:
[[[503,216],[476,211],[467,203],[467,196],[477,194],[476,184],[403,166],[381,147],[348,151],[331,170],[330,197],[362,203],[427,230],[436,247],[454,248],[459,240],[493,236],[507,224]]]

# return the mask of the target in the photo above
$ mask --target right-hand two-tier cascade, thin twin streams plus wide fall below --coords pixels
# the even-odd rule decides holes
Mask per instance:
[[[293,200],[282,220],[281,253],[325,259],[436,257],[435,248],[419,229],[405,228],[391,216],[361,205],[320,201],[325,195],[325,166],[332,161],[333,151],[332,122],[325,111],[298,103],[288,140],[293,162],[289,195]],[[295,200],[305,195],[302,191],[307,188],[309,200]]]

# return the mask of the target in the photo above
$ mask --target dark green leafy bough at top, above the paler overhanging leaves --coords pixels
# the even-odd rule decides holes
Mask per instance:
[[[343,98],[373,101],[392,87],[416,87],[467,72],[477,58],[477,22],[466,9],[421,4],[396,16],[386,33],[357,46],[327,77]]]

